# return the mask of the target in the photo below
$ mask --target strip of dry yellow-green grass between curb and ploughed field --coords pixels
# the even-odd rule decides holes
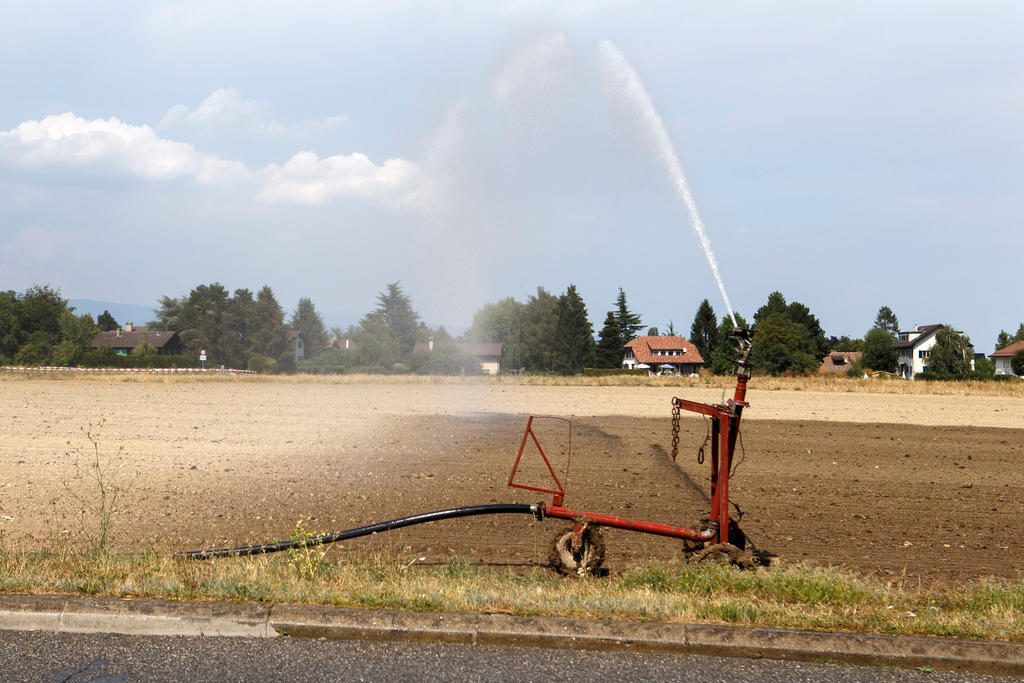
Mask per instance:
[[[0,551],[0,593],[326,604],[645,622],[705,622],[809,631],[1024,640],[1024,580],[923,589],[837,568],[651,563],[567,580],[451,561],[378,556],[334,562],[317,549],[184,561],[161,551]]]

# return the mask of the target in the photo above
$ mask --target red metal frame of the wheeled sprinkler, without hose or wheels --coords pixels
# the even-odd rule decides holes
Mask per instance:
[[[542,494],[551,494],[551,505],[541,503],[541,511],[544,517],[554,517],[557,519],[568,519],[574,522],[573,548],[579,545],[580,531],[584,524],[598,524],[601,526],[612,526],[625,528],[643,533],[653,533],[656,536],[667,536],[677,539],[692,539],[696,541],[711,541],[713,543],[728,543],[729,541],[729,472],[732,468],[732,454],[736,445],[736,435],[739,433],[739,418],[743,409],[749,405],[746,398],[748,375],[744,374],[743,365],[740,365],[740,372],[736,375],[736,390],[733,397],[724,404],[698,403],[683,398],[673,398],[672,404],[683,411],[707,415],[712,420],[712,447],[711,447],[711,524],[709,528],[695,530],[682,526],[670,526],[656,522],[640,521],[636,519],[626,519],[611,515],[603,515],[595,512],[582,512],[571,510],[562,505],[565,498],[564,481],[568,479],[569,461],[572,457],[572,423],[565,418],[555,418],[551,416],[530,416],[526,422],[526,429],[522,434],[522,441],[519,443],[519,452],[516,454],[515,463],[512,465],[512,473],[509,475],[509,486],[534,490]],[[565,463],[565,473],[562,480],[558,479],[551,462],[548,460],[544,449],[541,446],[537,434],[534,432],[535,419],[564,420],[569,423],[569,451],[568,459]],[[532,439],[537,445],[544,464],[548,467],[548,472],[555,482],[555,488],[534,486],[529,484],[516,483],[514,481],[516,471],[519,469],[519,462],[522,459],[526,440]]]

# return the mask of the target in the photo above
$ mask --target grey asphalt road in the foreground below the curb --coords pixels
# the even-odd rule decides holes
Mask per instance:
[[[0,632],[4,681],[1005,681],[827,664],[276,638]]]

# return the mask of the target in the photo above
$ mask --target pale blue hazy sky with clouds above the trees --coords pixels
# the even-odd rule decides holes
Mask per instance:
[[[0,289],[1024,322],[1016,1],[0,1]]]

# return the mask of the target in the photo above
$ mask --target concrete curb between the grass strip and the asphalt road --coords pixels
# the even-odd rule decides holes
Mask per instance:
[[[1024,676],[1024,643],[713,624],[407,612],[322,605],[0,595],[0,630],[514,645],[822,660]]]

